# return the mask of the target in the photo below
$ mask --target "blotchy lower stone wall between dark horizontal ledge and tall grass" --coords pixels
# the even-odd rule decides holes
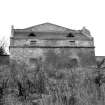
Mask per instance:
[[[30,59],[41,59],[50,65],[70,65],[71,60],[77,60],[78,66],[96,66],[93,48],[11,48],[10,58],[27,64]],[[59,66],[60,67],[60,66]]]

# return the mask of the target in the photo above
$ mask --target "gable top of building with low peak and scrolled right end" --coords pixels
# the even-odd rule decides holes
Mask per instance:
[[[85,37],[87,39],[92,39],[89,30],[86,28],[83,28],[82,30],[72,30],[69,28],[65,28],[56,24],[52,23],[43,23],[35,26],[31,26],[24,29],[13,29],[13,31],[16,33],[27,33],[27,32],[42,32],[42,33],[73,33],[76,36]]]

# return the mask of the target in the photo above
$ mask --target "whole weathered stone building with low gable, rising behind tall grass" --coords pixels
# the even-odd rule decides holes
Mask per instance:
[[[51,23],[12,27],[10,59],[33,65],[41,61],[57,69],[96,66],[94,40],[85,27],[72,30]]]

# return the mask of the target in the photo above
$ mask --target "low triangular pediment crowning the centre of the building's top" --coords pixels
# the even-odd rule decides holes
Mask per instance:
[[[70,31],[70,29],[58,26],[52,23],[44,23],[35,25],[29,28],[25,28],[25,30],[31,30],[31,31],[39,31],[39,32],[67,32]]]

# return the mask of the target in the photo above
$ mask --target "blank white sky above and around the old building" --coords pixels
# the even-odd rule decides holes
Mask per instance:
[[[94,37],[95,55],[105,56],[105,0],[0,0],[0,39],[7,49],[12,25],[45,22],[76,30],[85,26]]]

